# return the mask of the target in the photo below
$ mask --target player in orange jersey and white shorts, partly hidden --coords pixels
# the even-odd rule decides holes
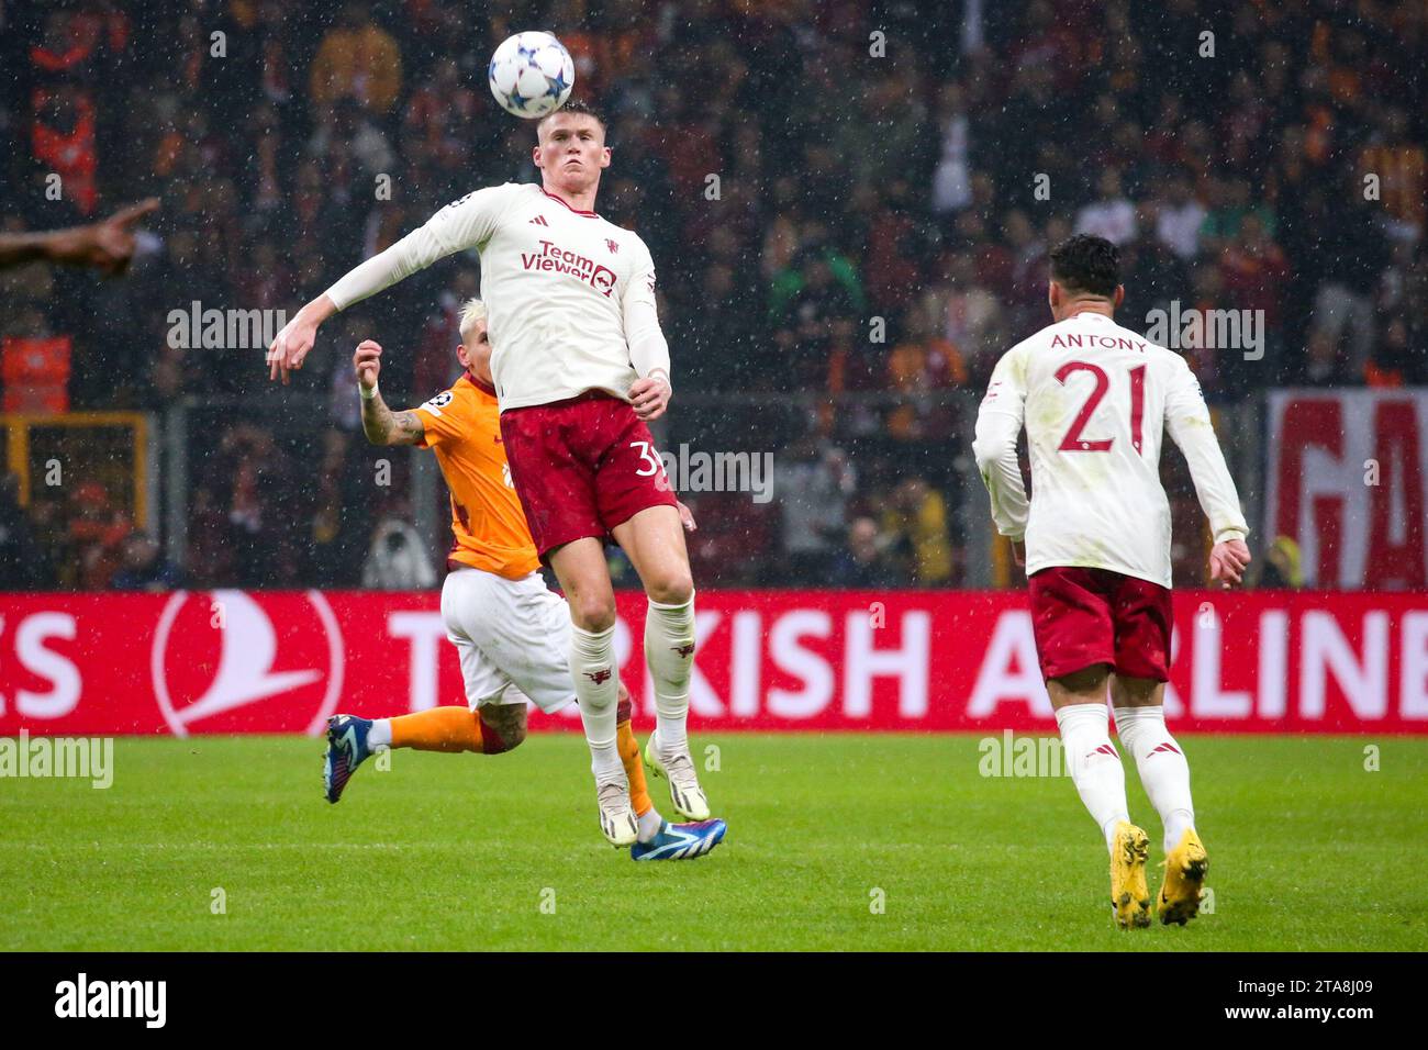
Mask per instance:
[[[323,781],[336,803],[356,769],[380,747],[501,754],[526,739],[527,699],[553,713],[574,700],[567,661],[570,614],[537,571],[540,560],[501,446],[486,306],[461,311],[456,384],[410,411],[381,399],[381,347],[367,340],[353,354],[361,391],[363,431],[373,444],[431,449],[451,490],[451,554],[441,587],[447,637],[461,657],[470,707],[433,707],[396,719],[351,714],[328,719]],[[681,513],[687,513],[681,507]],[[693,519],[687,520],[693,526]],[[630,781],[638,824],[634,860],[693,860],[724,837],[723,820],[670,824],[654,809],[640,767],[624,687],[615,744]]]

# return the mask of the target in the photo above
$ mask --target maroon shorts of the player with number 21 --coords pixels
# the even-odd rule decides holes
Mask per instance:
[[[1052,566],[1034,573],[1031,626],[1041,677],[1107,663],[1134,679],[1170,679],[1170,590],[1108,569]]]

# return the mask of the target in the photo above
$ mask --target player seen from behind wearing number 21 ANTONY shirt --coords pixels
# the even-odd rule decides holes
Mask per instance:
[[[974,451],[997,531],[1025,564],[1041,673],[1071,776],[1111,850],[1121,929],[1151,923],[1150,841],[1130,820],[1115,730],[1135,757],[1164,824],[1162,923],[1200,910],[1208,870],[1195,833],[1190,766],[1165,729],[1171,641],[1170,501],[1160,483],[1162,431],[1180,446],[1210,519],[1210,574],[1240,583],[1248,527],[1200,383],[1180,354],[1112,317],[1125,297],[1120,253],[1077,236],[1051,251],[1054,324],[997,363],[977,416]],[[1028,504],[1017,461],[1025,424]]]

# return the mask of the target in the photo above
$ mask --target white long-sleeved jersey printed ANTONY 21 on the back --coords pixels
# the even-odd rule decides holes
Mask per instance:
[[[1017,463],[1022,424],[1030,504]],[[1080,313],[1002,356],[977,413],[974,451],[997,530],[1025,539],[1028,576],[1084,566],[1171,586],[1165,430],[1190,464],[1215,541],[1247,536],[1200,383],[1180,354]]]

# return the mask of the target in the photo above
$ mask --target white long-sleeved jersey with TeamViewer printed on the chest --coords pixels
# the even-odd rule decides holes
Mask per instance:
[[[533,183],[468,193],[327,290],[338,310],[466,249],[481,253],[481,299],[501,410],[587,390],[627,397],[663,370],[654,260],[633,233]]]

